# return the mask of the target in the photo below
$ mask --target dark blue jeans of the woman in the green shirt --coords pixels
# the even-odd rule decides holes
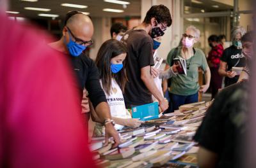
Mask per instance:
[[[172,102],[172,111],[174,111],[175,109],[179,109],[179,106],[183,104],[198,102],[198,92],[196,92],[196,94],[193,95],[170,94],[170,99]]]

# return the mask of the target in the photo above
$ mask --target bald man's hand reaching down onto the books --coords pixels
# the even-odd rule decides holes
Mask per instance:
[[[112,123],[106,123],[105,125],[105,144],[104,145],[108,144],[109,137],[113,137],[115,141],[115,144],[113,144],[112,148],[116,148],[116,146],[118,146],[118,144],[121,143],[118,132],[116,131]]]

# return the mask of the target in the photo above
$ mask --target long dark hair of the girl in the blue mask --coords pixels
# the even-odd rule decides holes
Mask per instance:
[[[115,78],[122,92],[124,92],[125,83],[127,82],[126,76],[126,58],[123,61],[123,68],[116,74],[111,73],[110,63],[113,57],[122,53],[127,53],[126,46],[117,41],[116,39],[109,39],[105,41],[99,49],[97,58],[95,60],[99,69],[100,79],[102,80],[103,90],[109,95],[111,90],[111,78]]]

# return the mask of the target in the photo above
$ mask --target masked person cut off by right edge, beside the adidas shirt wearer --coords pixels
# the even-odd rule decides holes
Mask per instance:
[[[252,67],[250,64],[253,62],[253,55],[254,55],[254,50],[253,50],[254,38],[255,38],[255,32],[250,31],[250,32],[246,32],[246,34],[244,34],[244,36],[241,39],[242,46],[243,46],[243,54],[244,54],[244,57],[246,57],[246,66],[241,72],[237,82],[248,80],[250,77],[250,67]]]

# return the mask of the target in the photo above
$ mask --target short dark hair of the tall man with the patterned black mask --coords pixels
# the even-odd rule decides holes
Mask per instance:
[[[172,25],[170,10],[163,4],[151,6],[151,8],[147,11],[147,15],[143,22],[150,24],[150,20],[153,17],[156,18],[157,22],[166,23],[167,27]]]

